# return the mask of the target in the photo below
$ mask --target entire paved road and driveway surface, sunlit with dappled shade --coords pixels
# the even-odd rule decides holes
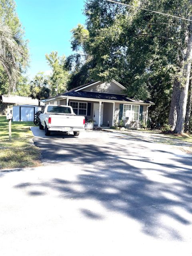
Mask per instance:
[[[37,129],[44,166],[0,172],[1,255],[192,255],[190,155],[121,134]]]

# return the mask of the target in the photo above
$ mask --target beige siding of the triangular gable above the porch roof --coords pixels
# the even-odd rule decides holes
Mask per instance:
[[[106,84],[105,82],[99,82],[97,84],[84,88],[82,91],[124,94],[123,89],[114,82],[110,82],[110,84]]]

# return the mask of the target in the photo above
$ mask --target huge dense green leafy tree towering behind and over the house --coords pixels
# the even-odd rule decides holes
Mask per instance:
[[[189,0],[119,2],[177,16],[188,17],[190,12]],[[86,0],[84,13],[87,32],[72,31],[72,48],[90,57],[89,76],[116,79],[126,86],[128,96],[153,100],[154,121],[168,122],[173,84],[184,74],[188,22],[105,0]],[[86,65],[87,60],[82,67]]]

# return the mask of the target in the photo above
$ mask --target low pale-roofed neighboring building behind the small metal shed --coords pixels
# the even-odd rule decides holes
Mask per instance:
[[[5,115],[7,112],[10,112],[13,109],[13,106],[16,105],[33,105],[38,106],[38,100],[34,100],[31,97],[23,97],[17,95],[4,96],[0,101],[0,114]],[[41,106],[44,106],[44,103],[41,102]]]

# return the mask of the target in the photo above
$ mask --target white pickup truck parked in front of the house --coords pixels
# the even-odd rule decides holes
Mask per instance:
[[[74,136],[84,131],[85,117],[76,116],[70,106],[46,105],[39,117],[39,129],[45,129],[46,136],[51,131],[73,132]]]

